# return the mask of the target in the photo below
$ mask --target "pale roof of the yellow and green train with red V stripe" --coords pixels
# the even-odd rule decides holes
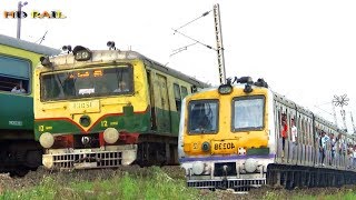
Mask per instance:
[[[208,83],[205,83],[202,81],[199,81],[190,76],[187,76],[180,71],[177,71],[172,68],[168,68],[152,59],[149,59],[147,57],[145,57],[144,54],[137,52],[137,51],[131,51],[131,50],[128,50],[128,51],[121,51],[121,50],[90,50],[92,52],[92,61],[101,61],[102,58],[109,58],[109,59],[112,59],[112,60],[116,60],[116,59],[128,59],[128,60],[132,60],[132,59],[140,59],[140,60],[144,60],[144,62],[146,64],[149,64],[151,68],[158,70],[158,71],[162,71],[165,73],[168,73],[172,77],[176,77],[178,79],[181,79],[181,80],[185,80],[191,84],[195,84],[197,87],[200,87],[200,88],[207,88],[207,87],[210,87],[210,84]],[[103,56],[105,54],[105,56]],[[66,59],[62,59],[63,56],[66,56]],[[52,58],[50,58],[51,61],[55,61],[56,63],[59,63],[59,64],[70,64],[70,63],[76,63],[77,61],[75,60],[75,57],[73,57],[73,53],[68,53],[68,54],[58,54],[58,56],[55,56]]]

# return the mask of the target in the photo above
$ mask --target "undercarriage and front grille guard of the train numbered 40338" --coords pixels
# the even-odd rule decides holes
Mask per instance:
[[[209,190],[231,189],[236,192],[248,192],[261,187],[293,190],[295,188],[325,188],[345,184],[356,184],[356,172],[276,163],[268,164],[267,171],[259,174],[240,174],[234,170],[227,170],[225,174],[217,172],[201,176],[187,174],[188,187]]]

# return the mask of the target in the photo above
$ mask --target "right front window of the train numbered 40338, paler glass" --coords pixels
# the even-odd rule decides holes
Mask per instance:
[[[233,100],[233,131],[264,128],[265,97],[243,97]]]

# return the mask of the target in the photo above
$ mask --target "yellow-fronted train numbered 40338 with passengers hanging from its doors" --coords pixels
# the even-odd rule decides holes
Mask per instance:
[[[320,132],[329,136],[323,144]],[[326,187],[356,181],[349,157],[355,138],[271,91],[263,79],[235,78],[187,96],[178,140],[189,187],[248,191],[263,184]]]

